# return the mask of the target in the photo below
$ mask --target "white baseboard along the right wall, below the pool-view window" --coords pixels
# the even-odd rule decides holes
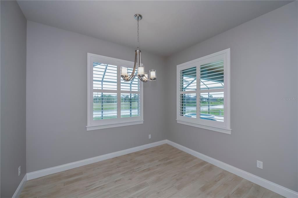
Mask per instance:
[[[209,157],[207,155],[204,155],[202,153],[199,153],[197,151],[191,150],[190,148],[184,147],[184,146],[182,146],[180,144],[177,144],[175,142],[172,142],[170,140],[166,140],[166,142],[167,142],[167,144],[170,144],[171,146],[176,147],[179,150],[182,150],[182,151],[184,151],[186,153],[189,153],[190,155],[193,155],[193,156],[195,156],[197,158],[200,158],[200,159],[202,159],[204,161],[207,161],[210,164],[213,164],[215,166],[218,166],[221,169],[224,169],[224,170],[226,170],[228,172],[231,172],[231,173],[233,173],[235,175],[238,175],[238,176],[240,176],[240,177],[242,177],[242,178],[244,178],[246,180],[249,180],[249,181],[251,181],[253,183],[256,183],[257,185],[260,185],[260,186],[262,186],[264,188],[267,188],[267,189],[269,189],[269,190],[271,190],[273,192],[276,192],[277,194],[280,194],[280,195],[282,195],[284,197],[288,197],[288,198],[298,197],[298,192],[292,191],[292,190],[290,190],[288,188],[285,188],[283,186],[280,186],[280,185],[278,185],[276,183],[273,183],[271,181],[265,180],[265,179],[263,179],[261,177],[258,177],[256,175],[253,175],[253,174],[251,174],[249,172],[243,171],[243,170],[238,169],[238,168],[236,168],[234,166],[231,166],[231,165],[226,164],[224,162],[218,161],[218,160],[216,160],[214,158],[211,158],[211,157]]]

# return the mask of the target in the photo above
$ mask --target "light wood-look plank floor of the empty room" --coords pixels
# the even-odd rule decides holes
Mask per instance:
[[[281,197],[168,144],[29,180],[22,197]]]

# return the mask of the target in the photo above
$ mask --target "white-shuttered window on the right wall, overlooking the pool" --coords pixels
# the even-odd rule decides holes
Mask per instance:
[[[231,134],[229,72],[230,49],[177,65],[177,122]]]

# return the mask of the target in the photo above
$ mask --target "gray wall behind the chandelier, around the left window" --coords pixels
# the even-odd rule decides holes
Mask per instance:
[[[165,59],[143,51],[159,76],[144,84],[144,124],[86,131],[87,52],[134,61],[134,50],[27,22],[27,172],[165,139]]]

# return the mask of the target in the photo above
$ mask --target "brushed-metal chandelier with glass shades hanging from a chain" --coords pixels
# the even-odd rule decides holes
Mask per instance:
[[[141,50],[139,50],[139,21],[142,19],[142,15],[136,14],[134,15],[134,18],[138,21],[138,47],[135,51],[135,57],[134,57],[134,69],[131,73],[128,72],[128,67],[122,66],[121,67],[121,77],[124,81],[133,81],[136,76],[142,81],[142,82],[148,82],[148,81],[155,81],[156,80],[156,70],[150,70],[149,75],[145,72],[145,67],[141,62]],[[137,74],[136,73],[136,67],[138,67]]]

